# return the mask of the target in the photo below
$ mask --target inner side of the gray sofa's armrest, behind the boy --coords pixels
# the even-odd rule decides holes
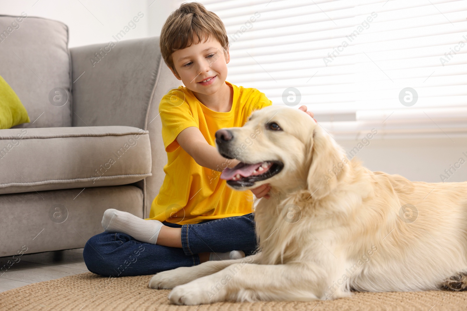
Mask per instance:
[[[153,121],[148,120],[147,111],[156,85],[165,79],[157,76],[161,64],[165,66],[160,62],[159,37],[87,45],[71,48],[70,52],[72,80],[76,80],[72,126],[127,125],[144,129]],[[177,88],[179,84],[172,85]],[[111,106],[114,109],[110,112],[102,109]]]

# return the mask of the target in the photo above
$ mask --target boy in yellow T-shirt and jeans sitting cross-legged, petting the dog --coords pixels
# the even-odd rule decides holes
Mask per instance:
[[[166,65],[185,85],[159,104],[166,175],[148,219],[116,209],[104,213],[106,232],[89,239],[83,252],[88,269],[100,275],[155,274],[241,258],[257,247],[252,193],[269,199],[269,184],[251,192],[227,187],[220,172],[240,161],[217,152],[214,134],[242,126],[252,111],[272,102],[256,89],[226,81],[226,30],[200,3],[184,3],[170,14],[160,48]],[[306,111],[306,106],[300,109]],[[128,264],[122,266],[125,260]]]

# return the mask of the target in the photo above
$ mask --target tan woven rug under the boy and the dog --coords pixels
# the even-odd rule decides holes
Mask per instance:
[[[170,290],[148,288],[151,276],[111,278],[92,272],[34,283],[0,293],[1,311],[457,311],[467,309],[467,292],[355,293],[333,301],[170,304]]]

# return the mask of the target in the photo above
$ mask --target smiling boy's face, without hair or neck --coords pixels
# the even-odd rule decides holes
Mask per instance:
[[[204,42],[202,38],[190,47],[173,52],[172,59],[179,76],[173,70],[172,73],[193,92],[210,95],[225,84],[230,54],[228,50],[224,53],[216,39],[209,38]],[[200,83],[212,76],[214,78],[208,83]]]

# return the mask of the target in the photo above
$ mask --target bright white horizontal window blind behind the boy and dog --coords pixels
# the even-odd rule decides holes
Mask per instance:
[[[467,0],[198,2],[226,26],[227,81],[333,136],[467,133]]]

